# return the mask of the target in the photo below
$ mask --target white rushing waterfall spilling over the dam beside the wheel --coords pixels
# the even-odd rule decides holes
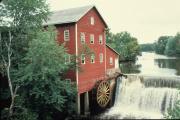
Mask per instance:
[[[180,79],[129,75],[119,80],[115,104],[101,118],[160,119],[179,99]]]

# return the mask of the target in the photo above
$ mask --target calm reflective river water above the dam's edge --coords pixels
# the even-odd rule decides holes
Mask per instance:
[[[120,68],[123,73],[180,76],[180,58],[143,52],[136,63],[123,63]]]

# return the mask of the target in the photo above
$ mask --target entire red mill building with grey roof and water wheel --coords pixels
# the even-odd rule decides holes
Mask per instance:
[[[108,26],[97,8],[85,6],[57,11],[44,25],[55,25],[58,41],[65,43],[69,54],[79,56],[77,61],[81,70],[67,75],[67,79],[77,84],[77,112],[80,114],[81,108],[88,112],[89,94],[94,88],[97,103],[105,107],[111,100],[111,86],[120,72],[119,54],[106,44]],[[93,51],[89,57],[81,52],[85,45]],[[70,56],[67,59],[70,62]]]

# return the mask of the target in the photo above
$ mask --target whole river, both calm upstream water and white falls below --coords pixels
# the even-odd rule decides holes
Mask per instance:
[[[162,119],[180,99],[180,58],[143,52],[120,67],[128,78],[119,78],[115,104],[100,118]]]

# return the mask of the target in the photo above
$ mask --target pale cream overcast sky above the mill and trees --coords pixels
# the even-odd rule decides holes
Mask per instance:
[[[95,5],[111,29],[128,31],[140,44],[180,32],[180,0],[47,0],[51,11]]]

